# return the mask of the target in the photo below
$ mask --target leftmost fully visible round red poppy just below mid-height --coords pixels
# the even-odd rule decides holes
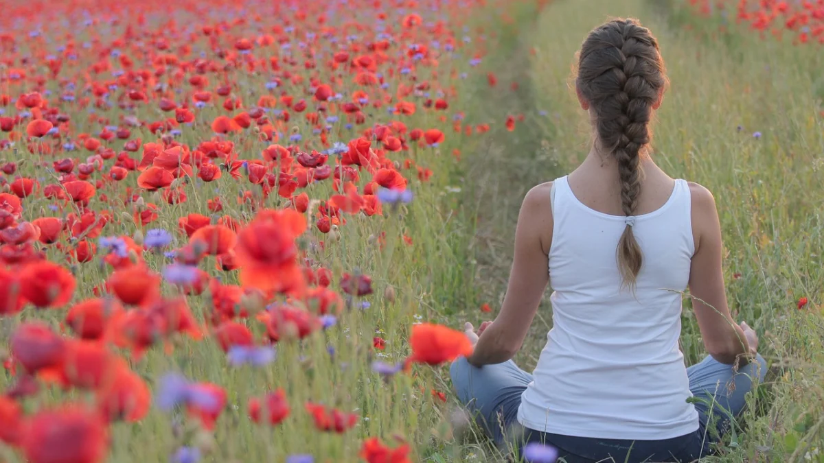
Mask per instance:
[[[26,264],[20,281],[22,296],[39,308],[65,305],[77,285],[71,272],[48,260]]]

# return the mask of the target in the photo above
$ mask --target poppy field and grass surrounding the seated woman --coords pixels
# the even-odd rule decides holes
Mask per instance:
[[[12,2],[0,461],[502,461],[448,327],[587,152],[569,65],[608,15],[659,37],[656,159],[714,192],[771,364],[708,460],[824,461],[821,0]]]

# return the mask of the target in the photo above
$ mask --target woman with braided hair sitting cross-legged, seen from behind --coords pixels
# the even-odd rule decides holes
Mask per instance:
[[[475,353],[452,364],[452,382],[499,444],[545,442],[569,463],[695,461],[766,370],[756,333],[729,313],[714,198],[649,156],[667,78],[648,29],[592,30],[575,84],[592,149],[527,194],[503,306],[478,334],[466,324]],[[511,358],[550,277],[553,328],[530,375]],[[678,343],[686,288],[709,352],[689,368]]]

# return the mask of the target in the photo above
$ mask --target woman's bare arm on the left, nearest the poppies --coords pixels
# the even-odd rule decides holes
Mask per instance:
[[[475,344],[467,361],[475,367],[513,358],[527,337],[538,304],[550,281],[549,250],[552,242],[552,183],[529,190],[518,214],[515,256],[503,306]]]

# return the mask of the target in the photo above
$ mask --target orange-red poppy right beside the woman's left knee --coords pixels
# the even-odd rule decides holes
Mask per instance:
[[[438,365],[472,354],[473,346],[466,334],[443,325],[422,323],[412,326],[410,336],[412,362]]]

